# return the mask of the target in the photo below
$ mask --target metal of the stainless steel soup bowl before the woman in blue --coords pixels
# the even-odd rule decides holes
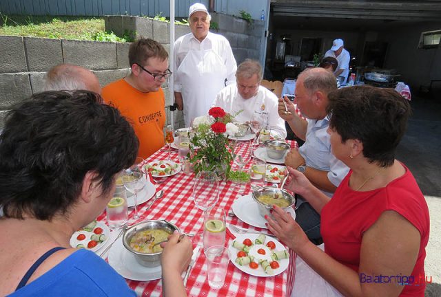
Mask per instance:
[[[138,261],[139,264],[145,267],[155,267],[161,265],[161,254],[163,252],[161,251],[152,254],[136,252],[135,250],[130,248],[130,240],[136,234],[136,232],[150,229],[163,229],[170,234],[172,234],[175,230],[181,233],[181,230],[179,230],[176,225],[165,220],[142,221],[140,223],[132,225],[130,228],[127,228],[124,231],[123,235],[123,245],[129,252],[134,254],[136,261]]]

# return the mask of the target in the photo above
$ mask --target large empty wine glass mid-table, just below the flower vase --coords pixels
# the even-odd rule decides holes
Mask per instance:
[[[199,171],[194,179],[193,201],[205,211],[216,205],[219,198],[218,176],[212,171]]]

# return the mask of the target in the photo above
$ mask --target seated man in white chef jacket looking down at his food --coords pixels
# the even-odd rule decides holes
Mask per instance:
[[[232,115],[241,111],[234,118],[236,122],[249,122],[254,113],[262,113],[265,124],[271,128],[271,134],[285,139],[287,131],[285,120],[278,115],[278,98],[260,85],[262,77],[260,63],[246,59],[237,68],[236,84],[223,88],[218,93],[214,106],[222,107]]]

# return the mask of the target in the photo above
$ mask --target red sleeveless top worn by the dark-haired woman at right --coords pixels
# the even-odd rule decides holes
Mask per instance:
[[[401,177],[394,179],[384,188],[367,192],[357,192],[349,188],[349,177],[352,174],[350,170],[332,199],[322,208],[320,232],[325,242],[325,252],[358,272],[363,232],[377,221],[382,212],[398,212],[420,232],[420,251],[411,276],[394,280],[384,277],[382,282],[409,283],[404,284],[400,296],[424,297],[424,259],[429,241],[429,208],[415,178],[406,166],[404,168],[406,173]],[[380,280],[379,276],[360,275],[360,281],[369,282],[370,279],[373,283],[375,278],[377,282]]]

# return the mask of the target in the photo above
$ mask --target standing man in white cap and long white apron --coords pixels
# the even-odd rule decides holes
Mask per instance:
[[[218,91],[235,81],[232,48],[224,36],[208,31],[211,19],[205,5],[194,3],[188,18],[192,32],[174,43],[174,97],[185,126],[206,115]]]

